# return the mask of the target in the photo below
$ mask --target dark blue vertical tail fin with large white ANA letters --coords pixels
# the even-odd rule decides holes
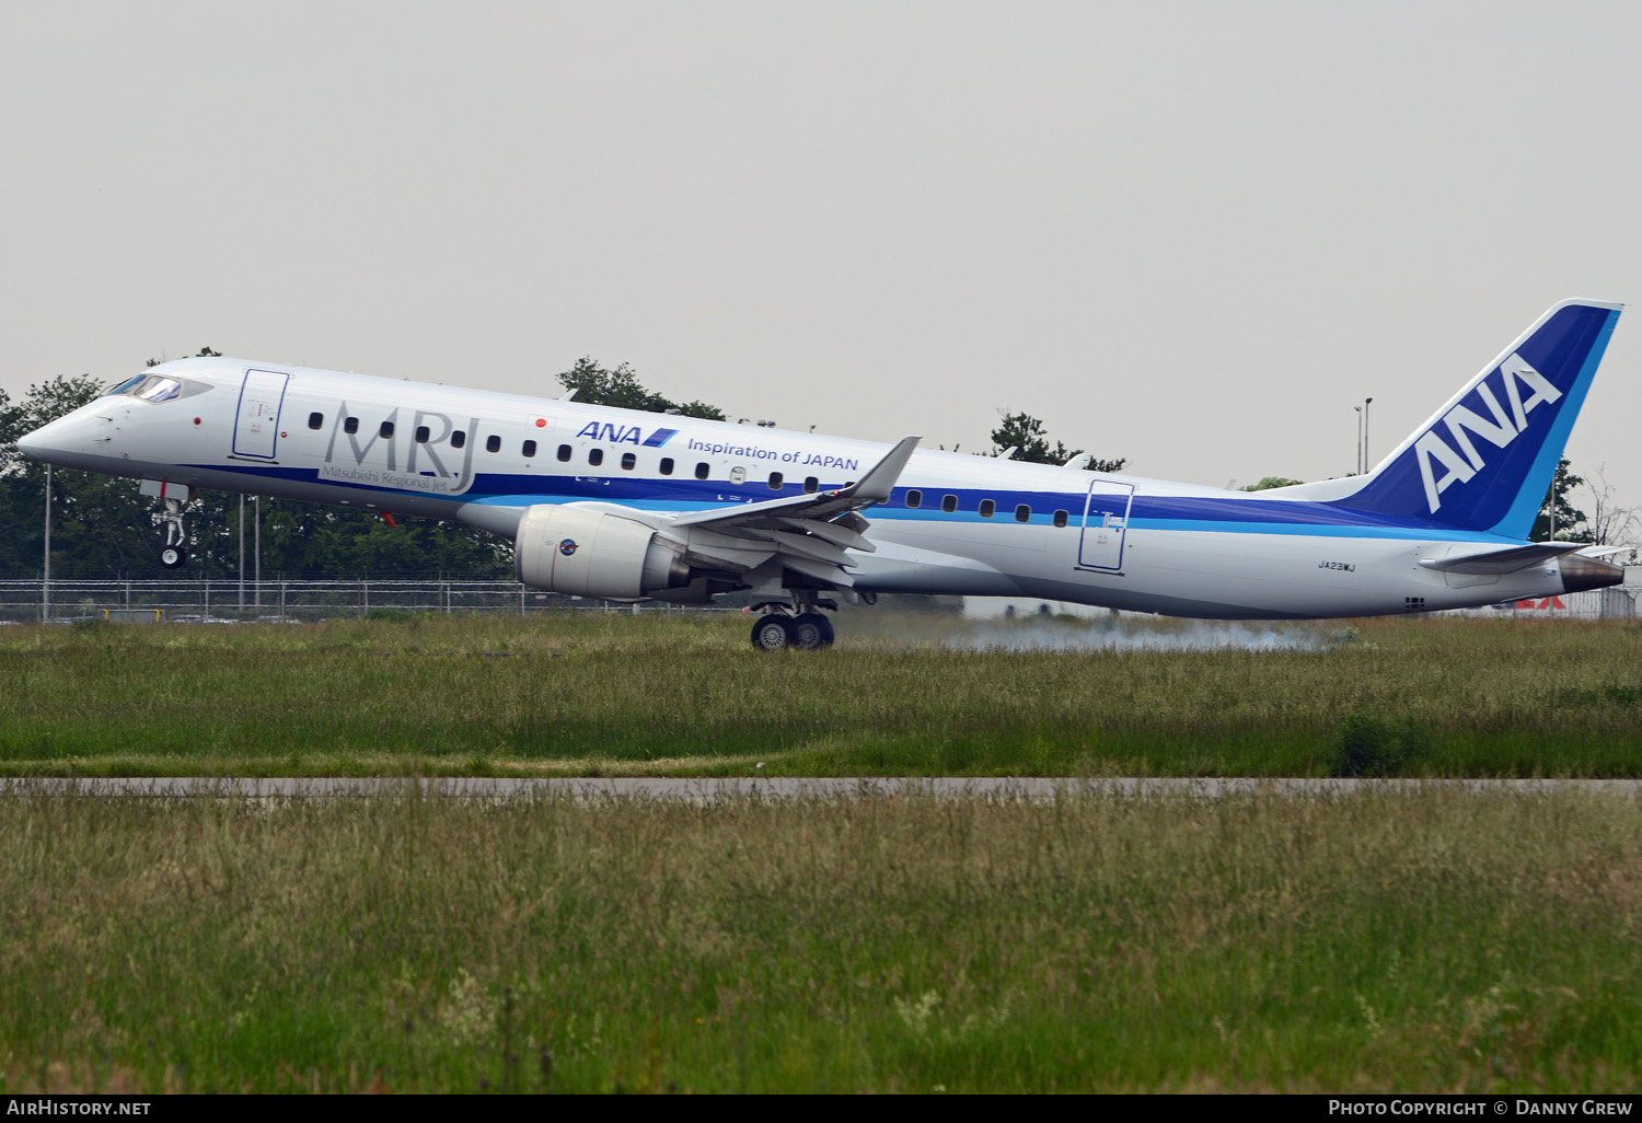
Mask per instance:
[[[1525,539],[1621,307],[1555,305],[1338,506]]]

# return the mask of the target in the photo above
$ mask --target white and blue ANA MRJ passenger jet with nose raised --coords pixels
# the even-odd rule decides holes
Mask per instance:
[[[1617,304],[1565,300],[1366,476],[1243,493],[282,363],[164,363],[20,442],[133,476],[182,565],[195,488],[455,519],[519,580],[611,601],[750,591],[759,649],[878,593],[1218,619],[1425,612],[1617,584],[1529,543]]]

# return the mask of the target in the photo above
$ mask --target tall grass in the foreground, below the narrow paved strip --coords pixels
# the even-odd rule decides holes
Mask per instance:
[[[0,800],[0,1090],[1629,1090],[1634,803]]]

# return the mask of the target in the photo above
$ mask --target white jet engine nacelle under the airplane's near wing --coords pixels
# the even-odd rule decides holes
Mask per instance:
[[[603,601],[635,601],[690,583],[690,566],[650,527],[558,504],[525,509],[514,573],[534,589]]]

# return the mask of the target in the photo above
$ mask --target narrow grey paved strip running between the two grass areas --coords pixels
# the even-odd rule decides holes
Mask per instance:
[[[496,778],[443,777],[424,780],[355,777],[133,777],[133,778],[0,778],[8,796],[227,796],[227,798],[346,798],[409,795],[514,800],[842,800],[842,798],[995,798],[1054,800],[1056,796],[1223,800],[1228,796],[1345,798],[1356,795],[1419,795],[1466,791],[1475,795],[1614,795],[1637,798],[1642,780],[1307,780],[1307,778],[1044,778],[1044,777],[601,777],[601,778]]]

